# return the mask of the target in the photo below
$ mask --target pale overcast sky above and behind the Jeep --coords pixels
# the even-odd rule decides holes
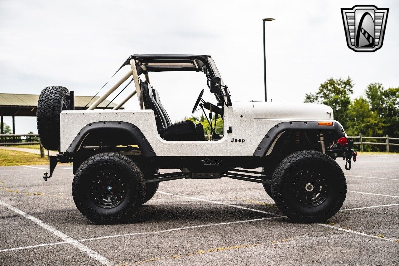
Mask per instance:
[[[346,45],[340,8],[356,4],[389,8],[377,52],[356,53]],[[348,75],[358,97],[371,82],[399,86],[398,8],[397,1],[1,0],[0,92],[39,94],[61,85],[93,95],[131,54],[207,54],[233,101],[260,101],[262,19],[269,17],[276,18],[266,25],[269,99],[302,102],[327,78]],[[203,73],[150,73],[150,79],[172,121],[191,115],[201,89],[215,101]],[[138,108],[137,97],[124,107]],[[36,118],[17,117],[16,133],[28,131],[37,132]]]

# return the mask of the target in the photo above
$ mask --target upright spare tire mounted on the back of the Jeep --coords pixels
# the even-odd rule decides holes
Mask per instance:
[[[60,145],[61,111],[69,110],[69,91],[65,87],[45,87],[39,96],[36,115],[41,144],[47,150],[58,150]]]

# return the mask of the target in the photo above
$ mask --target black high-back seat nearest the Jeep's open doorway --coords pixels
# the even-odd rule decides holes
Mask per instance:
[[[161,138],[167,141],[196,141],[198,133],[196,124],[186,120],[172,124],[166,110],[160,104],[158,93],[153,93],[150,85],[143,81],[140,85],[140,107],[153,110],[155,114],[156,127]]]

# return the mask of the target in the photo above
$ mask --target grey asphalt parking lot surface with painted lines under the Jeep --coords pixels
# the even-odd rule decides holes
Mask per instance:
[[[261,184],[224,177],[161,182],[130,222],[97,225],[75,207],[72,167],[45,182],[47,167],[0,167],[0,265],[399,263],[398,155],[359,155],[322,224],[293,223]]]

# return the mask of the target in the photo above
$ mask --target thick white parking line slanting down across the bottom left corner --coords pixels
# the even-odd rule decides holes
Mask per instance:
[[[39,226],[43,227],[47,231],[51,232],[52,234],[55,234],[59,238],[65,240],[65,243],[69,243],[72,246],[75,246],[76,248],[79,248],[79,250],[85,252],[87,255],[89,255],[91,258],[97,260],[101,264],[103,264],[103,265],[116,265],[115,263],[110,262],[104,256],[100,255],[99,253],[95,252],[94,250],[91,250],[89,247],[87,247],[87,246],[83,245],[82,243],[76,241],[75,239],[71,238],[70,236],[67,236],[63,232],[55,229],[53,226],[46,224],[42,220],[39,220],[38,218],[36,218],[36,217],[34,217],[32,215],[29,215],[26,212],[23,212],[22,210],[17,209],[14,206],[11,206],[10,204],[8,204],[8,203],[6,203],[6,202],[4,202],[2,200],[0,200],[0,204],[2,206],[12,210],[13,212],[16,212],[16,213],[24,216],[25,218],[31,220],[32,222],[38,224]]]

